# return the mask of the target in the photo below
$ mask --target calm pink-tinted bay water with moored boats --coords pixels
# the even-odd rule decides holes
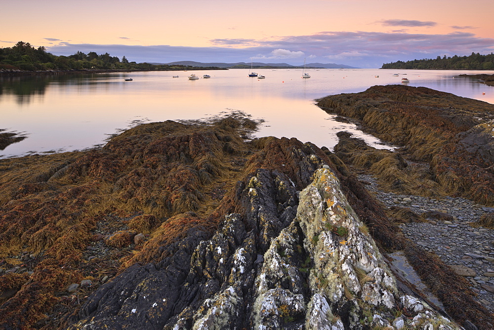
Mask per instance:
[[[257,136],[296,137],[331,148],[336,132],[347,130],[375,145],[375,138],[354,125],[333,121],[314,99],[400,83],[402,77],[408,77],[411,86],[494,103],[494,87],[457,77],[478,71],[312,69],[310,79],[302,79],[302,71],[294,69],[256,72],[266,79],[248,78],[247,70],[240,69],[0,77],[0,129],[27,134],[24,141],[0,150],[0,158],[82,150],[135,123],[206,119],[232,111],[263,119]],[[191,73],[211,78],[190,81]],[[400,76],[393,77],[395,73]],[[179,78],[172,78],[177,74]]]

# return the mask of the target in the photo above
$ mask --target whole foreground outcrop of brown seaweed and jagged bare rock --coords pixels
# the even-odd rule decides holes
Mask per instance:
[[[0,327],[454,328],[379,252],[405,249],[452,318],[492,328],[336,154],[245,141],[251,125],[145,124],[0,161]]]

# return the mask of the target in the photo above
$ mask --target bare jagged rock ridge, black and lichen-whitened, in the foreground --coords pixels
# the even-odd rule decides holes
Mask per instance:
[[[257,204],[262,200],[258,191],[265,182],[260,178],[259,173],[252,176],[243,194],[252,206],[262,209],[266,205]],[[288,178],[284,179],[287,184]],[[288,193],[296,198],[294,190]],[[178,292],[165,283],[150,285],[169,279],[170,271],[176,271],[170,269],[173,262],[167,268],[164,260],[140,271],[129,269],[89,299],[83,308],[87,316],[71,329],[118,328],[123,324],[149,329],[402,329],[429,325],[458,329],[425,302],[399,293],[369,232],[329,169],[316,171],[313,183],[300,193],[296,217],[293,214],[286,226],[278,228],[283,229],[276,231],[267,250],[262,251],[256,248],[262,246],[256,245],[256,230],[247,232],[241,215],[229,214],[210,239],[196,245]],[[183,252],[175,256],[179,254]],[[183,271],[185,275],[187,271]],[[140,283],[127,289],[125,281],[135,276],[140,276]],[[112,311],[109,308],[119,298],[112,298],[115,293],[110,289],[114,288],[121,288],[118,293],[122,297],[120,307]]]

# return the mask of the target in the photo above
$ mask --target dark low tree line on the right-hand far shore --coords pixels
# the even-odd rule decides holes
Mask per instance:
[[[481,55],[472,52],[469,56],[457,56],[435,59],[426,58],[412,61],[385,63],[381,69],[421,69],[421,70],[494,70],[494,54]]]

